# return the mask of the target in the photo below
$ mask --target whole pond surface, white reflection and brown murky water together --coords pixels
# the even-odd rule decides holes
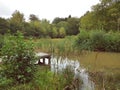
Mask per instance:
[[[52,71],[62,71],[67,66],[71,66],[74,69],[74,77],[79,77],[83,81],[79,90],[95,90],[95,84],[89,79],[87,71],[120,72],[120,53],[85,52],[76,56],[73,60],[52,56]]]

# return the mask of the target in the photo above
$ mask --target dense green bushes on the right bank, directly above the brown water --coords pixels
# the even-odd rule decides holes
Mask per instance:
[[[120,52],[120,33],[104,31],[81,31],[76,39],[81,50]]]

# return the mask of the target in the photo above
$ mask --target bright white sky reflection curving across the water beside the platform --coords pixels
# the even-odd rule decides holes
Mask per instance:
[[[80,67],[80,63],[76,60],[68,60],[57,57],[51,58],[51,70],[54,72],[62,71],[67,66],[71,66],[74,70],[74,78],[80,78],[83,81],[80,90],[94,90],[94,83],[89,80],[88,73],[85,69]]]

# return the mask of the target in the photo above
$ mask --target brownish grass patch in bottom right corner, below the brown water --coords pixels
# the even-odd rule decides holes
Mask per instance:
[[[119,90],[120,73],[89,72],[92,81],[96,84],[97,90]]]

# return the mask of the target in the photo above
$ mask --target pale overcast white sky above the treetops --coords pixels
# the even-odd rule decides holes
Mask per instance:
[[[55,17],[81,17],[99,0],[0,0],[0,17],[10,18],[15,10],[24,14],[28,20],[30,14],[39,19],[52,21]]]

